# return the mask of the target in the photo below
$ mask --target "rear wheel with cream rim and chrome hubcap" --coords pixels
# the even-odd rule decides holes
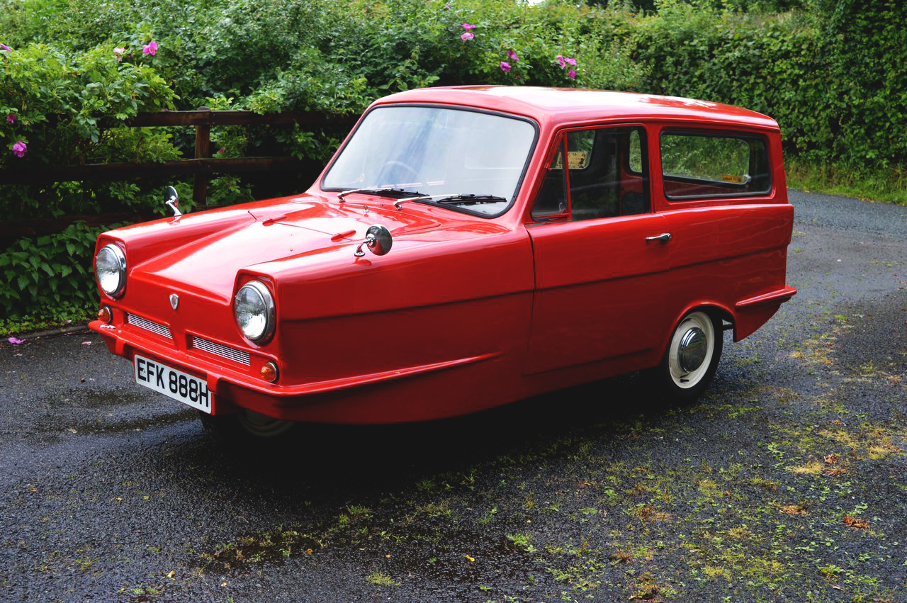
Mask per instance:
[[[679,402],[696,400],[715,374],[723,344],[720,319],[698,310],[684,316],[658,365],[661,391]]]

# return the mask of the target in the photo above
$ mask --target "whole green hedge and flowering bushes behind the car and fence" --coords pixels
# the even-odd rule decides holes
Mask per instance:
[[[597,4],[0,0],[0,43],[11,47],[0,50],[0,170],[163,161],[194,152],[191,128],[118,126],[137,112],[206,104],[261,113],[357,114],[375,98],[414,87],[497,83],[662,93],[744,106],[780,123],[788,163],[796,168],[792,181],[836,183],[852,192],[863,187],[904,199],[902,3]],[[463,24],[474,25],[472,38],[463,40]],[[158,44],[154,55],[142,52],[151,40]],[[575,79],[558,55],[576,60]],[[509,72],[502,62],[510,64]],[[323,163],[344,134],[327,125],[227,126],[213,128],[211,141],[216,157],[293,155]],[[253,181],[212,179],[208,205],[251,199]],[[164,183],[4,185],[0,211],[6,219],[160,213]],[[188,180],[166,183],[177,186],[183,207],[190,208]],[[301,189],[307,182],[292,186],[297,184]],[[886,184],[896,191],[886,192]],[[67,233],[20,240],[0,256],[0,269],[15,275],[0,289],[0,307],[81,300],[93,290],[76,287],[87,276],[51,250],[85,231]],[[79,261],[90,266],[90,253]],[[63,275],[63,267],[72,272]],[[34,274],[44,276],[35,280]]]

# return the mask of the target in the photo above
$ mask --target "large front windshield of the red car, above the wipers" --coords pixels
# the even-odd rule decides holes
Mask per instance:
[[[503,115],[405,105],[366,115],[327,172],[327,190],[404,190],[495,216],[516,197],[535,128]]]

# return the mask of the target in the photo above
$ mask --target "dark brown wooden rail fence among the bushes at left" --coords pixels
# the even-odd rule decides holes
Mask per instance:
[[[337,116],[319,112],[286,112],[261,115],[249,111],[162,111],[139,113],[127,122],[102,122],[102,128],[148,128],[161,126],[195,126],[195,158],[146,163],[86,163],[82,165],[45,166],[27,170],[0,170],[0,184],[44,184],[81,180],[130,180],[147,176],[194,176],[192,200],[203,205],[208,193],[208,177],[215,173],[243,171],[300,170],[307,167],[295,157],[212,158],[210,129],[229,125],[289,125],[292,123],[352,126],[357,116]],[[63,230],[75,219],[89,223],[111,223],[130,219],[129,214],[116,216],[68,216],[60,219],[36,219],[0,223],[0,238],[34,234],[51,234]]]

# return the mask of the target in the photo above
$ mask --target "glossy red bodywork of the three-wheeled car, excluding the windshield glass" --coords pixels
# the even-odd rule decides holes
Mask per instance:
[[[723,328],[743,339],[795,294],[785,284],[794,211],[778,126],[765,115],[688,99],[517,87],[402,92],[366,115],[395,106],[528,123],[534,133],[517,187],[494,206],[506,209],[483,214],[472,197],[451,207],[401,202],[406,195],[386,190],[332,190],[328,174],[364,117],[304,194],[103,233],[97,249],[122,250],[125,281],[115,296],[100,289],[106,313],[90,326],[113,354],[140,356],[140,380],[153,381],[154,365],[163,365],[207,384],[203,402],[213,415],[394,423],[472,413],[665,363],[703,372],[691,350],[709,321],[720,354]],[[671,176],[661,153],[671,132],[690,149],[715,141],[744,154],[748,147],[747,171],[760,175]],[[574,139],[584,150],[574,150]],[[619,173],[580,186],[599,152],[589,150],[593,140],[610,145],[605,157]],[[558,207],[543,211],[549,180]],[[580,189],[597,187],[636,209],[580,217]],[[646,197],[648,208],[639,202]],[[357,257],[373,225],[389,230],[393,248]],[[234,313],[250,280],[273,297],[273,335],[258,344]],[[681,328],[685,316],[699,316],[701,328]],[[671,342],[684,337],[675,347],[687,357],[671,360]],[[711,374],[703,376],[707,383]]]

